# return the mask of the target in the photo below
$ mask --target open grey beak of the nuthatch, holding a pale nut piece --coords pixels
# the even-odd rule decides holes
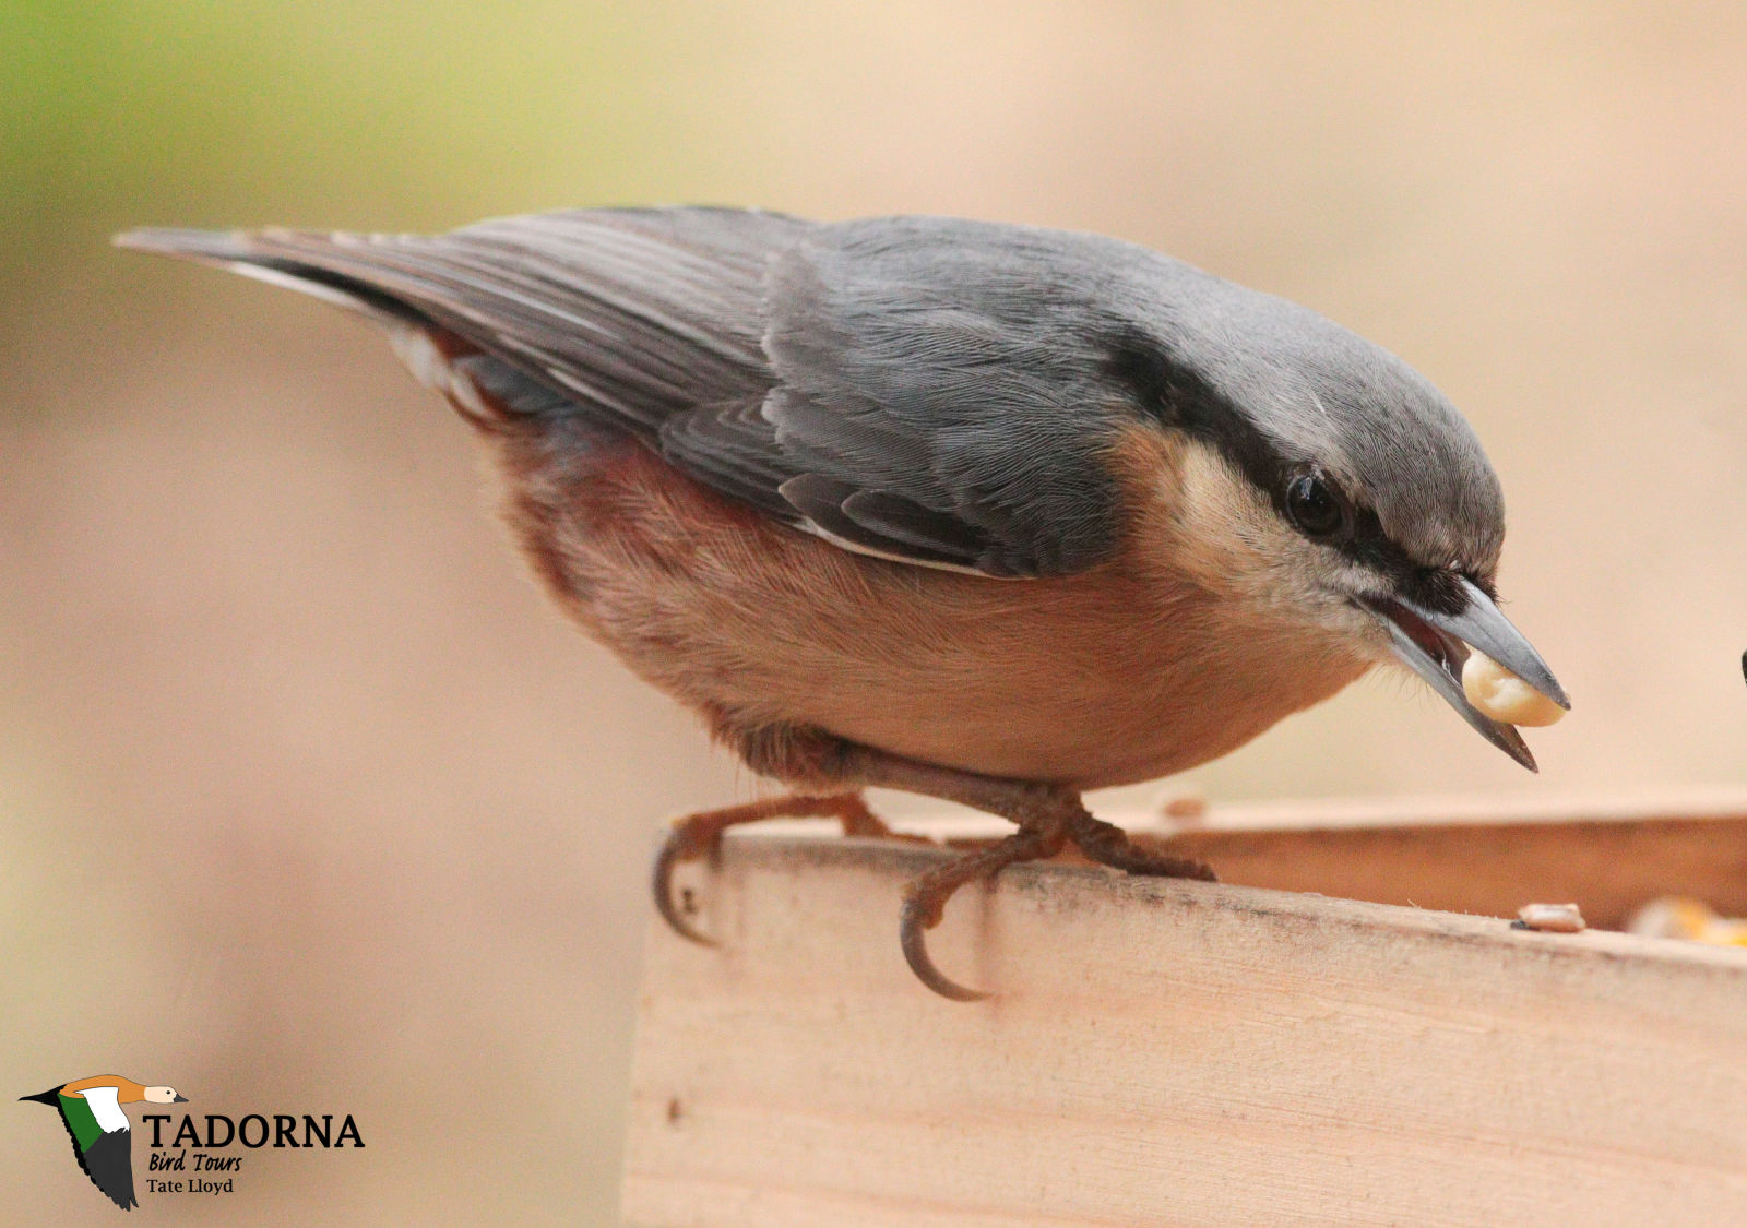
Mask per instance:
[[[1569,709],[1571,700],[1541,653],[1499,613],[1492,597],[1466,578],[1459,583],[1467,603],[1454,615],[1399,596],[1368,597],[1364,604],[1382,617],[1389,629],[1389,646],[1401,664],[1431,683],[1481,737],[1534,772],[1534,755],[1516,727],[1495,721],[1467,702],[1462,693],[1462,664],[1478,648],[1560,707]]]

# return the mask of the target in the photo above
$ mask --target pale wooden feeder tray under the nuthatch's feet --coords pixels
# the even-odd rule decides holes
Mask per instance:
[[[828,831],[685,870],[722,947],[652,928],[625,1223],[1747,1223],[1747,950],[1593,928],[1747,912],[1747,797],[1216,811],[1172,851],[1221,884],[963,893],[929,945],[977,1004],[893,942],[947,854]]]

